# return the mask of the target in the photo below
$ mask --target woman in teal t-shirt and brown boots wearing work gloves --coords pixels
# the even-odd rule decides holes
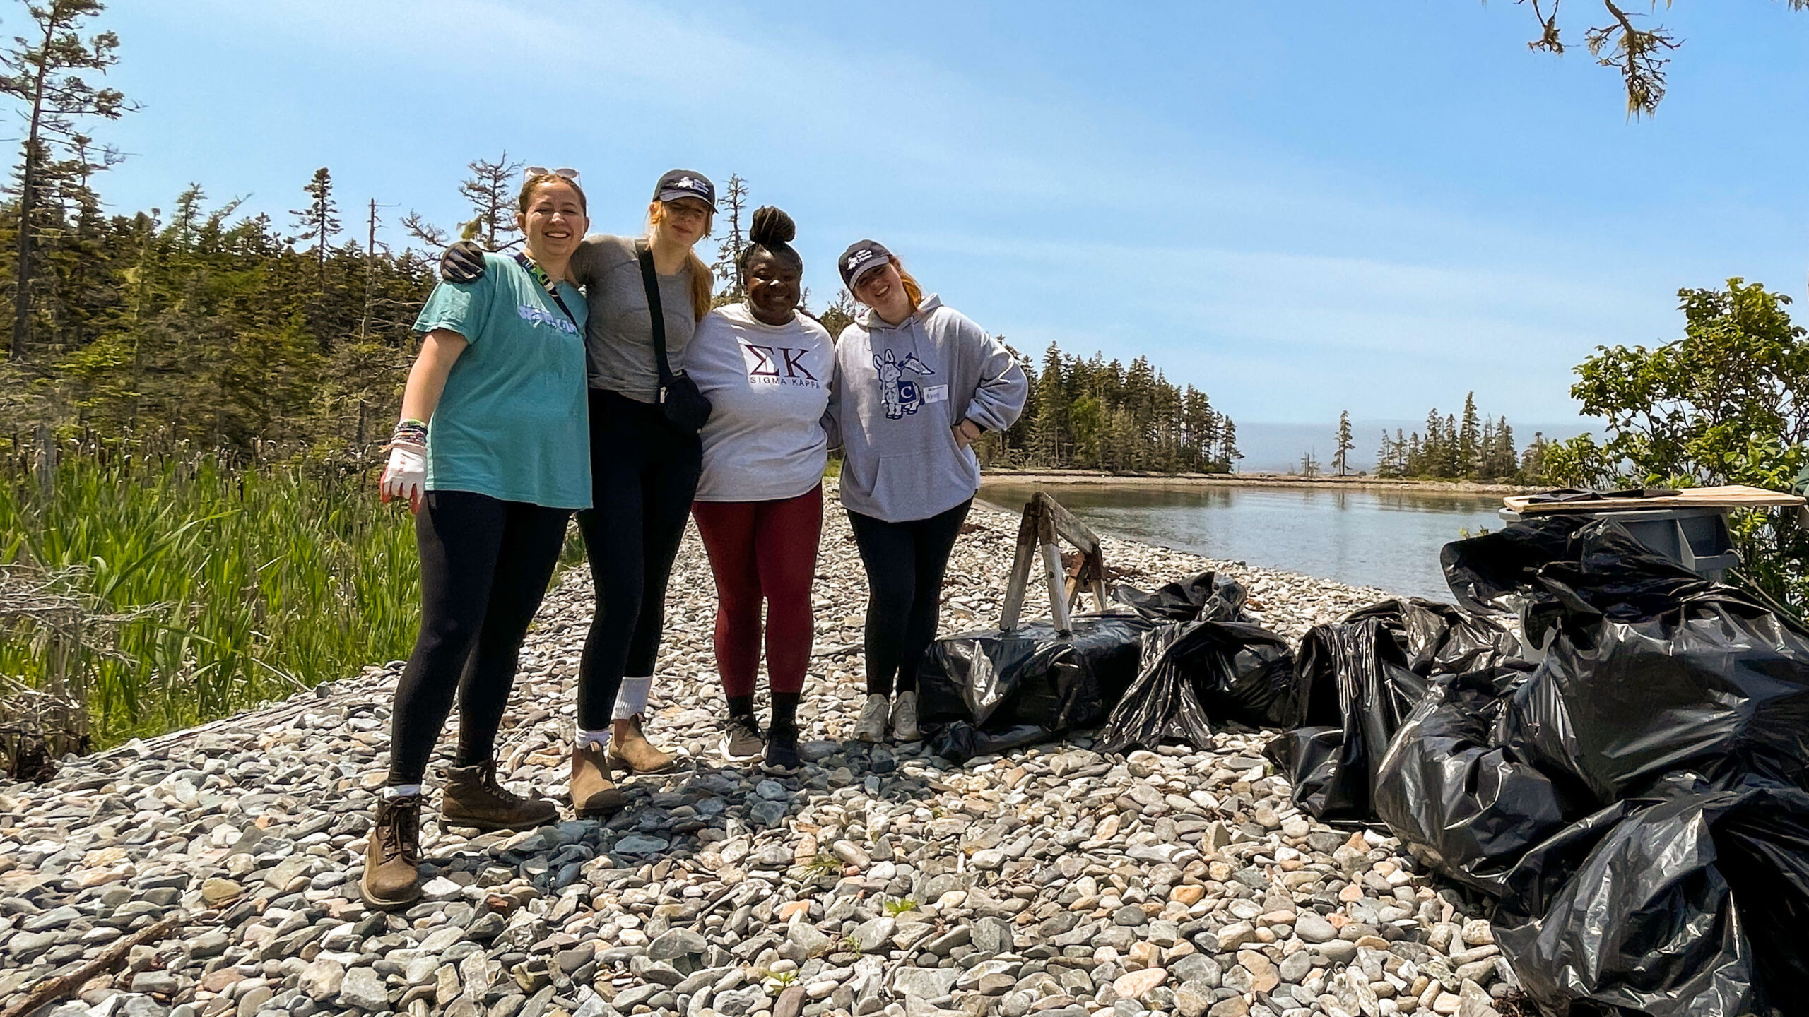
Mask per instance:
[[[575,174],[521,186],[526,250],[485,255],[483,279],[441,282],[414,329],[384,499],[407,498],[421,550],[421,632],[396,682],[389,780],[365,849],[365,903],[420,890],[421,778],[459,702],[458,758],[440,820],[479,829],[550,823],[550,802],[496,780],[494,742],[516,655],[552,579],[566,519],[590,507],[584,297],[572,252],[590,228]]]

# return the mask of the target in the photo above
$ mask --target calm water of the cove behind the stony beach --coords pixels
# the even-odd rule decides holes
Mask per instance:
[[[1037,485],[988,481],[980,498],[1020,510]],[[1496,530],[1498,494],[1275,487],[1049,485],[1094,530],[1217,559],[1248,561],[1451,599],[1438,548],[1460,530]]]

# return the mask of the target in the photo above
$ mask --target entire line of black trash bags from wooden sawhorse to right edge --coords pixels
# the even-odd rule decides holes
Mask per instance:
[[[1118,586],[1067,637],[937,641],[932,749],[1279,727],[1302,811],[1384,823],[1494,899],[1545,1013],[1809,1012],[1809,632],[1612,519],[1529,518],[1442,565],[1456,606],[1384,601],[1297,650],[1212,574]]]

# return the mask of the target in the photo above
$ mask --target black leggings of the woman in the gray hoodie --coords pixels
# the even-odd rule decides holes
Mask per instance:
[[[867,691],[917,691],[917,662],[935,639],[942,572],[973,499],[908,523],[848,512],[867,566]]]

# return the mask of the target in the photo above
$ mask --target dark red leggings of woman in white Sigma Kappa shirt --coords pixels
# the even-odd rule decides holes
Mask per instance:
[[[767,682],[803,691],[810,662],[810,579],[823,534],[823,489],[783,501],[696,501],[716,574],[716,673],[729,697],[754,695],[760,673],[760,601],[767,603]]]

